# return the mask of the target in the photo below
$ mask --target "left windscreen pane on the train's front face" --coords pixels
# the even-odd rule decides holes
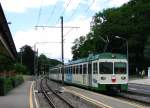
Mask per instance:
[[[112,62],[100,62],[100,74],[113,74],[113,63]]]

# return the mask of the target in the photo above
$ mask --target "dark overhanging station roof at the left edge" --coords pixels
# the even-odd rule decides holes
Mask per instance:
[[[17,57],[16,47],[1,4],[0,4],[0,54],[9,56],[12,59],[16,59]]]

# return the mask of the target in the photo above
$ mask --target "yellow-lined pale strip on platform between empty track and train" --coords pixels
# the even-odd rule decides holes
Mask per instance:
[[[80,94],[80,93],[77,93],[77,92],[75,92],[75,91],[68,90],[68,89],[65,89],[65,91],[70,92],[70,93],[73,93],[73,94],[75,94],[75,95],[77,95],[77,96],[79,96],[79,97],[85,99],[86,101],[89,101],[89,102],[91,102],[91,103],[93,103],[93,104],[99,106],[99,107],[103,107],[103,108],[113,108],[113,107],[111,107],[111,106],[108,106],[108,105],[106,105],[106,104],[100,102],[100,101],[91,99],[91,98],[86,97],[86,96],[84,96],[84,95],[82,95],[82,94]]]

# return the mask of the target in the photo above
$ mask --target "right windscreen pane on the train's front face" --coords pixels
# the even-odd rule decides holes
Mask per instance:
[[[126,63],[116,62],[114,64],[114,73],[115,74],[126,74]]]

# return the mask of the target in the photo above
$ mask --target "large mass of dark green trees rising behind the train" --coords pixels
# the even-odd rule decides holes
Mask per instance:
[[[150,64],[148,57],[150,36],[150,1],[131,0],[118,8],[105,9],[93,17],[90,33],[76,39],[72,47],[73,59],[89,53],[115,52],[126,54],[128,41],[130,68],[145,68]]]

